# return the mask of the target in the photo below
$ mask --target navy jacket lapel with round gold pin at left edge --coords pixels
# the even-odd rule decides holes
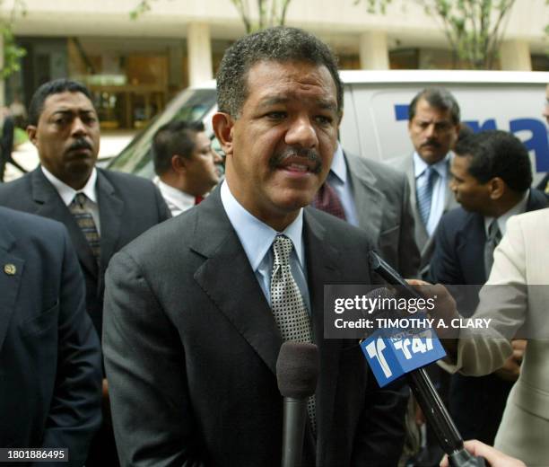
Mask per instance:
[[[24,260],[11,252],[15,244],[15,238],[7,225],[0,225],[0,290],[2,291],[0,293],[0,350],[15,310],[15,298],[19,293],[25,264]],[[15,274],[6,274],[4,272],[6,265],[15,266]]]

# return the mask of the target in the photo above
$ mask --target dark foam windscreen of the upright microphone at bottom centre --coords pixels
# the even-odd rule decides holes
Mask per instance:
[[[315,344],[284,342],[276,360],[276,380],[283,397],[305,399],[315,393],[319,357]]]

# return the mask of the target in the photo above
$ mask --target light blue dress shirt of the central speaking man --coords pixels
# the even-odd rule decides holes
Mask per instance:
[[[292,276],[300,287],[301,296],[310,314],[309,286],[307,286],[307,268],[305,267],[305,248],[303,243],[303,209],[283,232],[276,232],[272,227],[252,216],[232,196],[227,181],[222,182],[222,205],[229,217],[240,243],[246,252],[249,264],[256,275],[257,282],[271,305],[271,274],[273,272],[273,249],[271,246],[277,234],[284,234],[293,243],[290,254]]]

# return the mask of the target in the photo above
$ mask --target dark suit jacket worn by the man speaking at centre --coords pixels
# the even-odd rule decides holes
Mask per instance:
[[[318,443],[305,465],[396,465],[405,400],[379,390],[356,340],[323,338],[323,284],[368,282],[361,230],[305,208]],[[120,251],[107,271],[103,346],[123,465],[280,465],[282,339],[219,189]]]

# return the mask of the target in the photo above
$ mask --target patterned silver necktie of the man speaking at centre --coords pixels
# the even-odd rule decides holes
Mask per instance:
[[[312,342],[310,319],[300,287],[292,276],[290,253],[293,243],[285,235],[276,235],[273,242],[273,274],[271,275],[271,308],[283,341]],[[317,432],[315,395],[307,401],[307,412],[313,433]]]

